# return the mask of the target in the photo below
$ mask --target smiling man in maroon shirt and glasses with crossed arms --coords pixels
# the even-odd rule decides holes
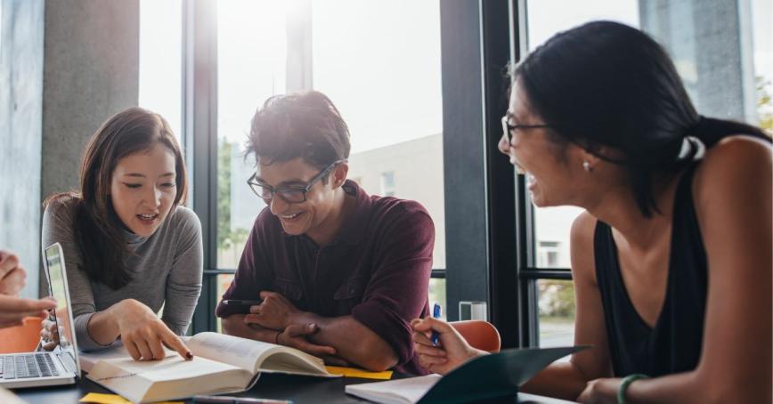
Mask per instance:
[[[434,225],[419,203],[347,180],[349,149],[346,123],[322,93],[274,96],[258,109],[248,185],[268,206],[216,314],[226,334],[328,364],[426,373],[410,321],[428,314]]]

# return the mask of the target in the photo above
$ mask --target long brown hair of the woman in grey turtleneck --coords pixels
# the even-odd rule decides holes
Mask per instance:
[[[188,192],[183,153],[167,121],[141,108],[119,112],[92,135],[80,169],[79,191],[53,195],[44,203],[48,206],[54,199],[75,201],[75,232],[84,270],[89,278],[113,289],[126,286],[132,276],[125,264],[131,253],[121,232],[124,225],[110,200],[112,174],[118,160],[156,144],[166,146],[175,154],[174,209],[185,201]]]

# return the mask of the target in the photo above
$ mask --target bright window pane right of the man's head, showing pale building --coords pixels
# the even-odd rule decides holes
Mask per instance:
[[[349,177],[426,207],[445,268],[438,1],[312,2],[311,21],[313,88],[349,125]]]

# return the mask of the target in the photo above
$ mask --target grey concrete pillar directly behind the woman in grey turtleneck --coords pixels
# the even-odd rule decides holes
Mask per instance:
[[[137,105],[139,39],[138,0],[45,4],[42,198],[77,188],[85,142]]]

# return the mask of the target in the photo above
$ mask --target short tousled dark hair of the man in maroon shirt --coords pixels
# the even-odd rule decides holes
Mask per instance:
[[[349,149],[349,127],[333,101],[318,91],[266,100],[252,118],[247,145],[258,164],[303,158],[319,169],[349,158]]]

